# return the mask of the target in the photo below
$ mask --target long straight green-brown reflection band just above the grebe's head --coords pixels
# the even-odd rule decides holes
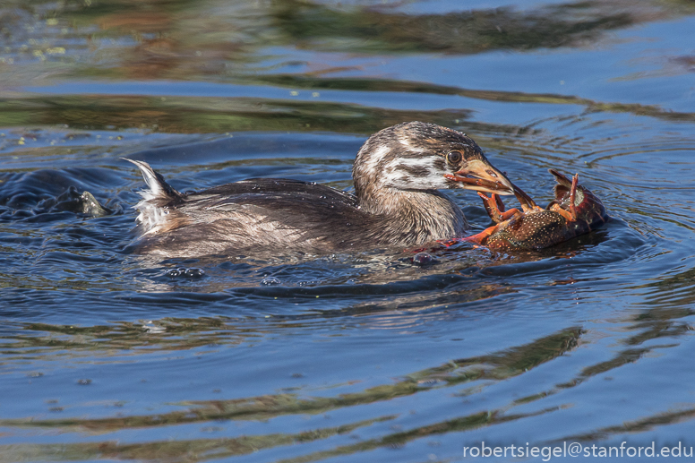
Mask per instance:
[[[333,131],[373,133],[408,120],[450,124],[467,109],[417,111],[273,99],[55,97],[0,100],[0,126],[69,124],[90,130],[155,128],[175,133]]]

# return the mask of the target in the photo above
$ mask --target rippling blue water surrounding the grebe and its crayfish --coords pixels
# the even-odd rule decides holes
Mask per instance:
[[[0,462],[695,446],[691,4],[11,1],[0,26]],[[369,134],[410,120],[542,204],[547,168],[579,173],[613,219],[426,266],[129,252],[122,157],[182,191],[349,189]],[[113,213],[44,207],[70,186]]]

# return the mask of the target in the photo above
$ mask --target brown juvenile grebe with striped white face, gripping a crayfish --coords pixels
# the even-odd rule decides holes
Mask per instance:
[[[137,249],[164,257],[425,244],[464,236],[468,228],[459,206],[438,189],[513,193],[475,141],[421,122],[393,125],[365,141],[352,169],[355,194],[277,178],[179,193],[146,162],[126,160],[150,187],[135,206]]]

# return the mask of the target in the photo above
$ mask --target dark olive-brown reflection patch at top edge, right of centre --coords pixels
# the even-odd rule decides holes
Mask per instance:
[[[340,11],[302,0],[276,4],[273,24],[290,40],[305,47],[346,51],[467,54],[560,47],[639,21],[630,10],[616,10],[616,4],[605,2],[545,6],[530,12],[494,8],[421,15],[373,8]]]

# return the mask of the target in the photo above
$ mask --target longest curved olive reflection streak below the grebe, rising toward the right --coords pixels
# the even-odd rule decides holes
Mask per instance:
[[[32,325],[34,326],[34,325]],[[46,325],[40,327],[46,330]],[[71,330],[62,327],[61,330]],[[83,329],[86,330],[86,329]],[[297,394],[276,394],[248,399],[190,401],[190,409],[155,416],[124,416],[101,419],[66,418],[61,420],[0,420],[2,426],[77,427],[92,432],[108,432],[170,424],[201,423],[211,420],[267,420],[288,414],[322,414],[341,407],[371,404],[416,394],[433,388],[450,387],[466,382],[501,381],[544,364],[577,346],[581,330],[572,328],[537,339],[528,345],[497,354],[461,358],[447,364],[408,375],[399,382],[342,394],[338,397],[300,398]],[[99,333],[105,337],[104,333]],[[142,333],[140,334],[142,338]],[[156,339],[150,344],[156,345]],[[206,339],[210,343],[210,339]],[[31,347],[38,347],[36,344]],[[148,345],[150,346],[150,345]],[[27,346],[29,347],[29,346]],[[16,349],[17,347],[13,347]],[[467,418],[468,419],[468,418]]]

